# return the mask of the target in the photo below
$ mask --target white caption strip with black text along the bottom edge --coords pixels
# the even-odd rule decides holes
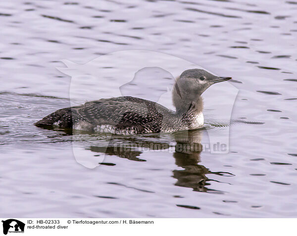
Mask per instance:
[[[292,235],[297,219],[74,219],[5,218],[2,232],[7,236],[73,235]],[[0,233],[0,235],[1,235]]]

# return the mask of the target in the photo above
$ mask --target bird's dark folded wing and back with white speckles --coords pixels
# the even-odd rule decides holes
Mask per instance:
[[[72,115],[74,120],[84,119],[93,125],[110,124],[119,129],[137,127],[140,132],[148,128],[158,133],[163,120],[160,111],[166,109],[152,101],[123,96],[87,102]]]

